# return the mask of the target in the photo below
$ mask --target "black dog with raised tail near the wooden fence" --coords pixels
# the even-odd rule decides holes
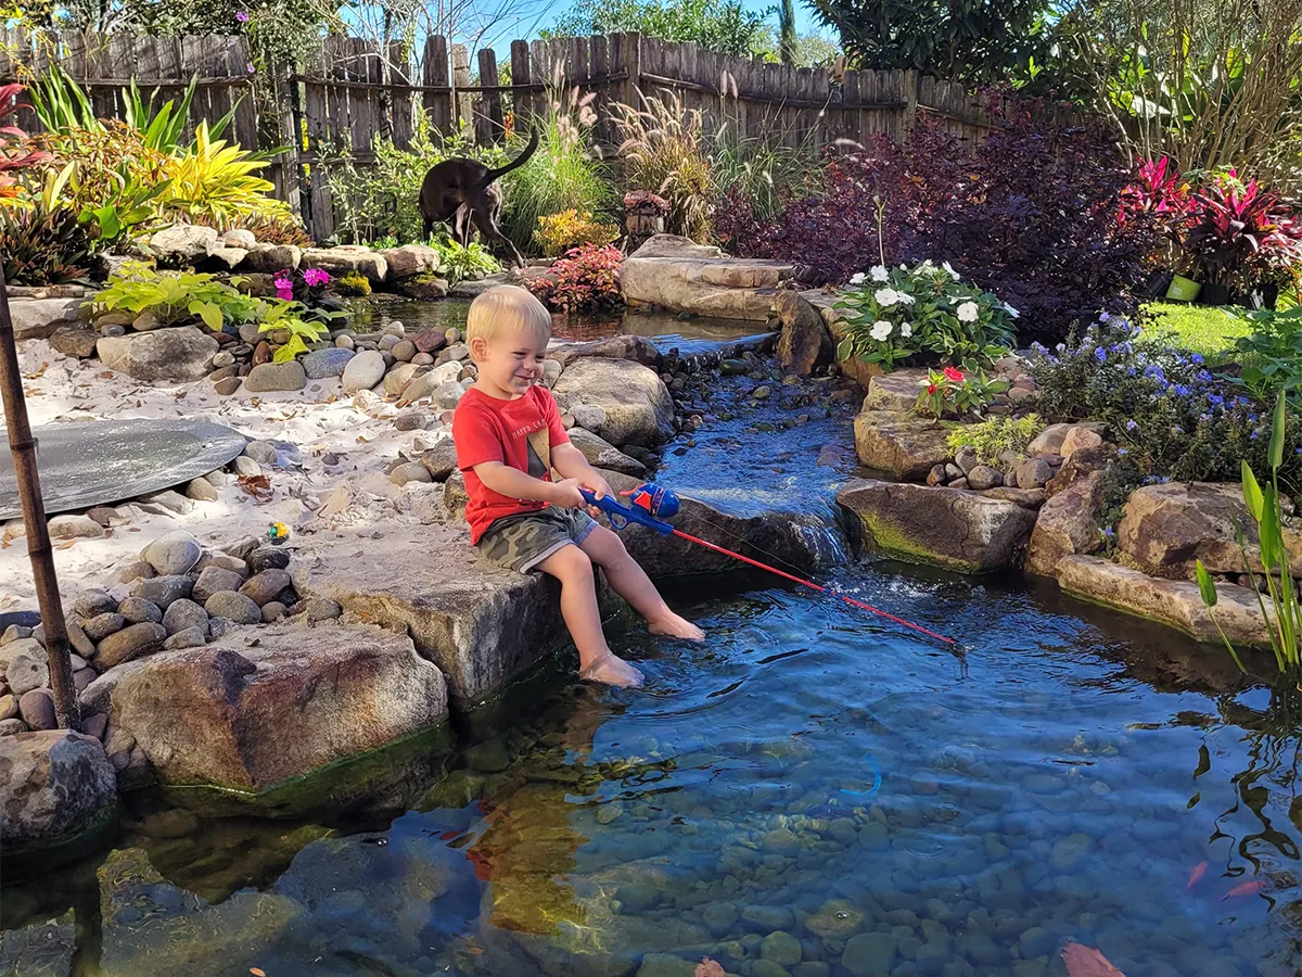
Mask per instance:
[[[465,248],[473,228],[478,228],[484,244],[497,241],[510,249],[516,264],[525,267],[510,238],[497,227],[501,211],[501,188],[497,180],[517,167],[525,165],[538,149],[538,130],[529,134],[525,151],[504,167],[490,169],[474,159],[454,156],[430,168],[421,184],[421,218],[424,220],[424,238],[428,241],[437,223],[453,224],[453,234]]]

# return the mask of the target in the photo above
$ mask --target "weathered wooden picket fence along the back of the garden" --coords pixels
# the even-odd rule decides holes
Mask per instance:
[[[102,117],[125,113],[122,89],[130,78],[146,94],[158,89],[172,98],[197,77],[194,122],[220,119],[238,100],[230,135],[249,149],[289,147],[267,177],[318,240],[335,229],[335,205],[320,178],[323,160],[346,150],[357,165],[368,165],[376,139],[408,149],[418,112],[439,133],[465,128],[477,142],[501,141],[508,113],[543,112],[552,83],[595,94],[594,137],[607,149],[620,142],[611,108],[638,104],[639,91],[677,98],[684,111],[699,109],[708,134],[727,126],[736,138],[810,152],[876,133],[901,139],[924,115],[967,139],[983,138],[990,128],[961,85],[919,72],[835,76],[637,34],[512,42],[505,85],[499,83],[496,53],[482,50],[473,85],[469,51],[449,47],[443,36],[427,38],[418,52],[398,42],[381,52],[372,42],[331,35],[314,59],[280,65],[267,78],[253,73],[242,36],[53,36],[0,29],[0,82],[25,81],[55,61],[86,87]],[[262,86],[260,99],[253,98],[255,85]],[[260,115],[259,103],[273,108]],[[20,125],[38,128],[30,113]]]

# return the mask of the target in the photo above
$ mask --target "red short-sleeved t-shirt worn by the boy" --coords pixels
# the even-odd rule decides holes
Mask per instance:
[[[457,468],[466,478],[466,495],[470,496],[466,521],[470,522],[471,543],[479,542],[493,520],[547,508],[546,502],[512,499],[495,492],[474,473],[475,465],[500,461],[534,478],[552,481],[547,465],[529,444],[529,435],[544,427],[552,449],[569,443],[556,399],[546,387],[530,387],[516,400],[497,400],[471,387],[457,404],[452,417],[452,442],[457,447]]]

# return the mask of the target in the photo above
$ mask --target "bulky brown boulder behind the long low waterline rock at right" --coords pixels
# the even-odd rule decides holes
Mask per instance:
[[[1202,560],[1212,573],[1245,573],[1243,552],[1236,537],[1243,528],[1247,556],[1260,569],[1256,524],[1237,485],[1169,482],[1137,488],[1117,525],[1121,560],[1155,577],[1193,580]],[[1284,526],[1284,545],[1297,576],[1302,576],[1302,531]]]

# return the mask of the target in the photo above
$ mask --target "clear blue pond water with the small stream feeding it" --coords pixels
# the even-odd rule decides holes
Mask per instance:
[[[754,386],[720,382],[665,481],[825,512],[844,469],[816,457],[853,405],[783,429],[798,391]],[[1223,651],[1052,586],[872,561],[833,582],[962,654],[771,578],[686,582],[668,595],[706,645],[612,629],[646,689],[581,685],[561,654],[458,720],[452,756],[401,752],[379,796],[277,821],[132,799],[100,853],[5,874],[0,974],[70,954],[86,977],[690,977],[707,956],[1038,977],[1066,939],[1128,977],[1302,967],[1299,741]]]

